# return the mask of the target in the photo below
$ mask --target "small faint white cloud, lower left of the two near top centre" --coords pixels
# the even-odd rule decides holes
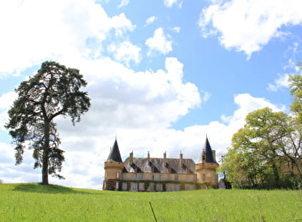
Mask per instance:
[[[141,59],[140,50],[139,46],[131,44],[128,41],[121,44],[110,44],[108,46],[108,51],[114,53],[114,58],[117,61],[122,61],[127,67],[130,66],[131,61],[135,64],[139,64]]]

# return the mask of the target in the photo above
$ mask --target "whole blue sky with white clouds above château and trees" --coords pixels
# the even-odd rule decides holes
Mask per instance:
[[[62,186],[101,189],[115,138],[124,160],[217,159],[253,110],[289,112],[300,75],[300,0],[0,0],[0,178],[40,182],[32,150],[15,165],[4,124],[14,89],[45,60],[80,70],[90,110],[55,119]]]

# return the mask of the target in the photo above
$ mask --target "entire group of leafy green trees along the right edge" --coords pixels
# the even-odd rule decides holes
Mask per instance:
[[[221,157],[219,171],[233,187],[301,187],[302,76],[290,75],[289,81],[290,112],[269,107],[251,112]]]

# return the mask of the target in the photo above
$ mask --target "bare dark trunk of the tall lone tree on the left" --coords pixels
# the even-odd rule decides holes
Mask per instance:
[[[43,150],[43,163],[42,163],[42,185],[49,185],[48,182],[48,155],[49,155],[49,142],[50,142],[50,128],[51,124],[48,120],[44,121],[44,150]]]

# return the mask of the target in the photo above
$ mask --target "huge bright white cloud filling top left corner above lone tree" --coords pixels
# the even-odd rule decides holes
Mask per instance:
[[[110,18],[92,0],[1,1],[0,75],[45,59],[99,56],[111,30],[122,36],[134,28],[123,13]]]

